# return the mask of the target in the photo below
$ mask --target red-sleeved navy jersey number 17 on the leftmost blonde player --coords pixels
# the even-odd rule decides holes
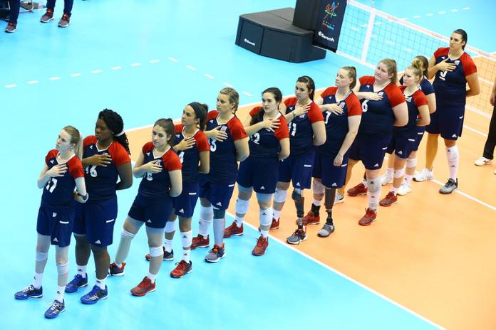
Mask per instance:
[[[48,151],[45,157],[45,164],[48,169],[58,165],[56,149]],[[41,201],[51,206],[70,206],[73,201],[73,191],[76,187],[76,179],[84,176],[83,165],[78,156],[73,155],[66,162],[67,171],[63,176],[51,178],[45,184]]]

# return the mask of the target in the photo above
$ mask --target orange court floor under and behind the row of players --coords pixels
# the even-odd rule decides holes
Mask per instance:
[[[238,117],[243,118],[251,108],[241,107]],[[336,232],[319,238],[320,226],[309,226],[309,239],[296,248],[447,329],[495,329],[496,166],[473,165],[482,155],[488,122],[483,115],[465,113],[467,127],[458,140],[458,193],[438,193],[448,178],[440,139],[434,181],[413,182],[413,191],[400,196],[390,208],[380,207],[378,220],[369,227],[357,223],[366,208],[366,196],[346,196],[334,208]],[[137,156],[150,139],[150,127],[135,129],[128,137]],[[424,164],[425,140],[418,154],[418,170]],[[362,174],[363,166],[358,164],[349,187]],[[387,192],[388,186],[383,187],[383,196]],[[308,210],[311,191],[305,196]],[[231,213],[235,198],[236,192]],[[257,226],[258,214],[253,199],[247,222]],[[281,228],[271,232],[274,238],[285,240],[291,235],[295,214],[289,200],[281,213]]]

